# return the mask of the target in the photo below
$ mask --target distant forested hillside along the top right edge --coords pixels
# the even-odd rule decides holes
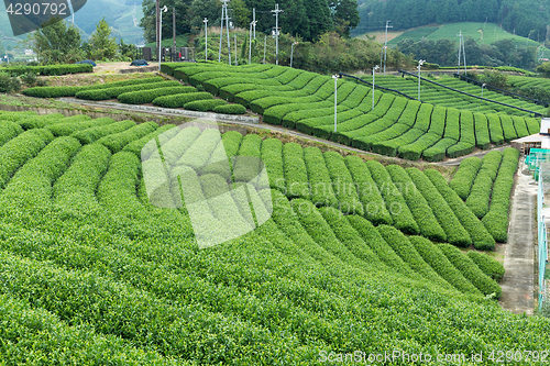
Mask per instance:
[[[431,23],[493,22],[531,40],[550,37],[550,0],[358,0],[361,23],[356,34]]]

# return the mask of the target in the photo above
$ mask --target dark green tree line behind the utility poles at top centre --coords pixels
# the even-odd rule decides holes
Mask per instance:
[[[356,0],[231,0],[229,16],[239,27],[249,29],[252,9],[256,10],[256,30],[271,34],[275,26],[272,10],[275,3],[284,12],[279,14],[282,32],[300,36],[306,41],[318,40],[321,34],[337,32],[349,36],[350,31],[360,22]],[[172,34],[172,11],[176,11],[176,33],[186,34],[204,29],[202,20],[208,18],[209,25],[220,25],[220,0],[162,0],[161,7],[169,11],[163,14],[163,34]],[[147,42],[156,40],[155,1],[144,0],[143,18],[140,25],[144,29]]]

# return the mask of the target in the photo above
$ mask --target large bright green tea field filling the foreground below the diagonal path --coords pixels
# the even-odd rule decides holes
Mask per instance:
[[[550,321],[502,310],[502,265],[457,247],[494,245],[469,197],[494,180],[484,219],[504,212],[517,155],[463,163],[454,179],[472,182],[466,192],[435,169],[237,131],[212,144],[212,133],[0,112],[3,364],[315,365],[355,351],[493,364],[494,350],[540,361]],[[197,188],[193,200],[223,199],[201,211],[216,230],[250,220],[237,188],[258,166],[239,157],[268,173],[251,193],[255,229],[199,249],[187,198],[152,204],[147,162],[172,162],[172,182],[195,171],[182,185]]]

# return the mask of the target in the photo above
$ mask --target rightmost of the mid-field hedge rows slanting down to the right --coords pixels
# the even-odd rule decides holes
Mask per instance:
[[[476,249],[492,251],[495,248],[495,240],[485,229],[483,223],[473,214],[462,199],[447,184],[446,178],[435,169],[427,169],[424,174],[439,190],[449,207],[453,210],[460,223],[469,232]]]

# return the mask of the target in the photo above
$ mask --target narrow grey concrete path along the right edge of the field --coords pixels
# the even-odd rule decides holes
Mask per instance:
[[[528,174],[521,160],[512,202],[508,243],[504,258],[506,271],[501,282],[503,296],[499,303],[514,313],[525,312],[528,315],[532,315],[535,306],[536,207],[537,182]]]

